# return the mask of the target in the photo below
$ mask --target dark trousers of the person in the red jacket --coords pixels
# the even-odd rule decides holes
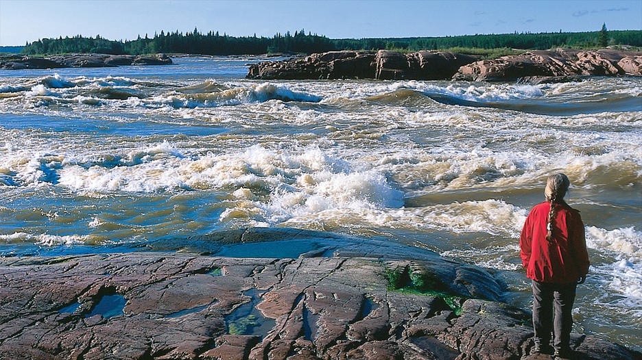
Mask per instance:
[[[571,310],[577,286],[576,283],[540,283],[533,280],[533,326],[537,344],[549,345],[552,330],[556,350],[569,349],[573,326]]]

